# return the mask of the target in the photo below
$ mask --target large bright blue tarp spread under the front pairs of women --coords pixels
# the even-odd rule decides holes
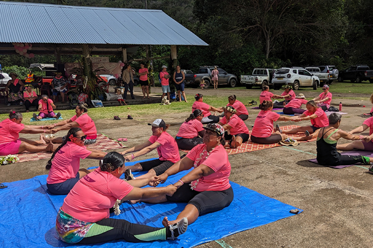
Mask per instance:
[[[126,163],[126,165],[137,162]],[[168,183],[176,182],[186,173],[170,176]],[[56,215],[65,196],[48,195],[46,178],[47,175],[40,175],[27,180],[5,183],[8,188],[0,189],[1,247],[76,247],[58,240],[55,229]],[[236,183],[231,182],[231,185],[234,199],[229,207],[200,216],[195,223],[188,226],[187,232],[180,236],[180,239],[154,241],[151,246],[154,248],[194,247],[293,215],[289,213],[290,209],[295,209],[293,206],[263,196]],[[134,205],[123,203],[120,206],[122,213],[119,216],[113,215],[112,218],[161,227],[164,216],[168,216],[170,220],[175,219],[185,205],[185,203],[173,202]],[[149,243],[113,241],[110,244],[79,247],[139,248],[149,247],[149,245]]]

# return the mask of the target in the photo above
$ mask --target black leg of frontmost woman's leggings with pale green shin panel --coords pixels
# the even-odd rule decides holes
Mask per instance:
[[[151,227],[147,225],[134,224],[126,220],[107,218],[99,222],[96,222],[95,225],[96,224],[101,225],[101,226],[110,226],[114,228],[109,231],[105,231],[103,233],[84,238],[77,244],[104,243],[104,242],[118,240],[118,239],[122,239],[128,242],[138,243],[138,242],[153,241],[153,240],[166,240],[167,237],[171,236],[171,231],[169,230],[169,228]],[[162,229],[166,229],[166,230],[162,230]],[[162,230],[162,231],[159,231],[159,230]],[[159,231],[159,232],[151,233],[154,231]],[[148,234],[148,235],[141,236],[141,234]]]

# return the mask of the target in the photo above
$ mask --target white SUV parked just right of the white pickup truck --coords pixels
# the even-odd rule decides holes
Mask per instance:
[[[273,76],[273,88],[280,89],[284,84],[292,85],[294,90],[299,87],[313,87],[317,89],[319,78],[301,67],[281,68]]]

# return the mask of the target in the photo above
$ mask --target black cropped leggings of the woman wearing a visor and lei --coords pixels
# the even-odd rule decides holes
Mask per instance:
[[[198,209],[199,216],[222,210],[233,200],[233,189],[230,187],[222,191],[195,191],[191,190],[189,183],[177,189],[172,197],[166,196],[168,201],[188,202]]]

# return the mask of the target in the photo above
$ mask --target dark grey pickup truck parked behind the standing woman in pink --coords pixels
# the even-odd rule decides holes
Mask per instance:
[[[197,74],[194,74],[194,80],[191,85],[198,87],[200,81],[203,78],[206,84],[205,88],[208,88],[211,84],[211,71],[214,70],[215,66],[200,66]],[[237,77],[233,74],[229,74],[223,69],[216,66],[219,71],[218,85],[228,84],[230,87],[234,88],[237,85]]]

